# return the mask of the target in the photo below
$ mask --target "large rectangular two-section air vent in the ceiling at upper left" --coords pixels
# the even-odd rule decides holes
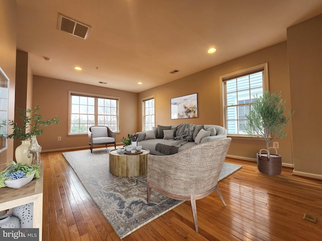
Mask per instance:
[[[89,35],[91,30],[91,26],[59,14],[58,30],[65,31],[82,39],[87,39],[87,36]]]

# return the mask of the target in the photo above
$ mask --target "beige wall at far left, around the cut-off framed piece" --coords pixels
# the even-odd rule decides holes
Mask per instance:
[[[0,67],[9,77],[9,119],[14,119],[16,78],[16,1],[0,1]],[[9,134],[11,132],[9,131]],[[8,140],[8,149],[0,153],[0,164],[13,160],[13,140]],[[2,168],[0,169],[2,170]]]

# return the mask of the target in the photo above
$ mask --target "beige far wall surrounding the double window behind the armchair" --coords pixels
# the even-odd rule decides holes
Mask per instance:
[[[59,79],[34,76],[33,106],[39,104],[44,118],[55,115],[61,120],[58,125],[44,127],[43,135],[37,137],[43,151],[89,147],[88,136],[67,136],[68,133],[68,90],[115,96],[120,98],[120,133],[116,142],[121,143],[123,136],[137,132],[137,93],[80,84]],[[61,141],[57,141],[61,137]]]

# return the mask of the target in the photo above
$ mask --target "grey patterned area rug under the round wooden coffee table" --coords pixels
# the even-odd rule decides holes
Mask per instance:
[[[112,148],[93,149],[93,153],[90,150],[65,152],[63,156],[120,238],[183,203],[154,190],[147,203],[147,176],[117,177],[111,174],[110,150]],[[240,165],[224,163],[219,180],[239,168]]]

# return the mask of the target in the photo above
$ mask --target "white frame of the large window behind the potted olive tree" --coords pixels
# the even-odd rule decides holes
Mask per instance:
[[[224,89],[224,81],[227,79],[232,79],[232,78],[237,78],[238,76],[245,76],[248,73],[254,73],[256,71],[264,71],[264,78],[263,78],[263,92],[269,91],[269,78],[268,78],[268,63],[263,63],[259,64],[253,67],[249,67],[246,69],[238,70],[229,74],[225,74],[222,76],[219,76],[219,85],[220,85],[220,116],[221,116],[221,126],[223,126],[227,132],[228,132],[228,127],[227,127],[227,113],[226,113],[226,108],[225,108],[225,103],[226,103],[226,92]],[[252,96],[251,96],[252,97]],[[238,128],[238,127],[237,127]],[[241,136],[241,137],[248,137],[247,134],[230,134],[227,133],[227,136]]]

